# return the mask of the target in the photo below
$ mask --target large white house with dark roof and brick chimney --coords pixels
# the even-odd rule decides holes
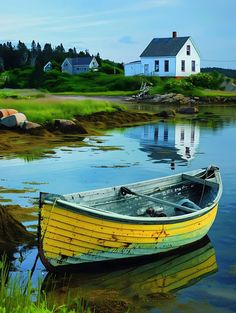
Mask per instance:
[[[125,76],[183,77],[200,72],[200,54],[191,37],[154,38],[140,60],[125,64]]]

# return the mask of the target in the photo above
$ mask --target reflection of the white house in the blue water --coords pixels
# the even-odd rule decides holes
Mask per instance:
[[[196,125],[160,123],[127,130],[140,140],[141,150],[154,160],[190,160],[196,153],[200,129]]]

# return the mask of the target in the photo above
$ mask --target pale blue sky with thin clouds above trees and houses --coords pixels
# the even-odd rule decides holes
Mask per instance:
[[[0,42],[32,40],[131,62],[153,38],[191,36],[202,67],[236,69],[236,0],[0,0]]]

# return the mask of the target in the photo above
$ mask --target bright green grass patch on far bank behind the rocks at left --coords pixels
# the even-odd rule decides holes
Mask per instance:
[[[51,123],[54,119],[73,119],[77,115],[90,115],[96,112],[114,112],[125,109],[105,100],[1,100],[1,108],[11,108],[26,115],[27,119],[36,123]]]

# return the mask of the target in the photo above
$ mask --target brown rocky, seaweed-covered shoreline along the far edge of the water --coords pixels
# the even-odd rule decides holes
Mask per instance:
[[[28,121],[23,113],[14,109],[2,109],[0,110],[0,129],[15,130],[32,135],[42,135],[45,132],[94,134],[96,130],[137,125],[160,118],[174,118],[176,114],[198,114],[201,105],[236,104],[236,97],[186,97],[176,93],[144,97],[133,96],[123,100],[163,105],[163,110],[154,114],[117,109],[112,113],[98,112],[87,116],[75,116],[73,120],[55,119],[51,123],[40,125]]]

